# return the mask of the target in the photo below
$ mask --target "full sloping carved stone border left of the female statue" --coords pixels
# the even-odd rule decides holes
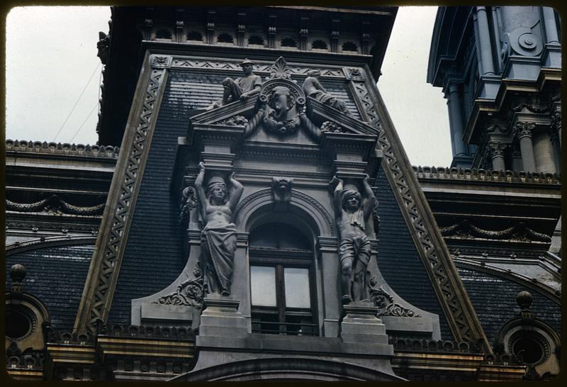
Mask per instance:
[[[106,322],[120,264],[128,240],[137,193],[142,183],[147,155],[164,93],[167,69],[152,68],[155,57],[146,54],[138,80],[133,106],[126,125],[124,149],[120,152],[116,172],[103,213],[99,239],[85,281],[83,296],[74,327],[94,331],[98,320]]]

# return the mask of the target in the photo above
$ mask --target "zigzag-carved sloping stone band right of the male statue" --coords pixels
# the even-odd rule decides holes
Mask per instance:
[[[352,84],[355,91],[354,94],[358,97],[363,108],[364,116],[366,116],[371,125],[381,128],[378,112],[374,106],[371,94],[366,88],[366,84],[364,82],[352,82]],[[489,348],[480,322],[475,318],[472,305],[466,304],[466,300],[461,298],[466,297],[466,295],[463,296],[462,292],[457,289],[458,284],[455,284],[455,281],[459,281],[458,276],[451,278],[448,275],[449,273],[455,273],[455,269],[446,262],[446,259],[440,259],[439,255],[443,254],[443,252],[437,252],[437,249],[434,247],[432,236],[427,225],[425,225],[420,208],[417,206],[415,194],[412,192],[403,169],[400,167],[400,160],[398,155],[395,154],[389,133],[387,132],[387,130],[380,130],[378,135],[378,144],[383,152],[383,169],[393,188],[394,195],[398,196],[398,200],[402,204],[400,209],[405,211],[405,218],[410,221],[409,225],[413,228],[414,235],[419,241],[417,248],[422,251],[420,257],[424,259],[427,273],[437,288],[437,296],[447,314],[451,331],[456,340],[471,342],[483,340],[485,346]],[[447,259],[450,258],[447,257]]]

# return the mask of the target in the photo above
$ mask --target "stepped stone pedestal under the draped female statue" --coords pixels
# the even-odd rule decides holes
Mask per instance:
[[[245,337],[247,335],[246,318],[238,311],[240,301],[218,294],[208,294],[203,301],[198,336]]]

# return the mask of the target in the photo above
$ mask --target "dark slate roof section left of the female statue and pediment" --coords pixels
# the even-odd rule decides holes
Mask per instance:
[[[179,210],[170,195],[169,184],[177,138],[187,134],[189,110],[203,107],[202,103],[196,105],[200,99],[187,101],[191,90],[187,84],[211,78],[199,75],[193,79],[187,75],[186,72],[169,75],[108,322],[130,323],[130,301],[150,296],[171,284],[186,262],[177,225]],[[222,77],[217,80],[220,84]]]

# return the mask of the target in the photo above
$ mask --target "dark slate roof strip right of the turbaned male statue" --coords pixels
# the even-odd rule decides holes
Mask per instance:
[[[378,268],[388,285],[405,301],[423,310],[439,315],[443,340],[453,340],[446,318],[432,284],[413,245],[383,170],[378,172],[378,198],[380,233],[378,235]]]

